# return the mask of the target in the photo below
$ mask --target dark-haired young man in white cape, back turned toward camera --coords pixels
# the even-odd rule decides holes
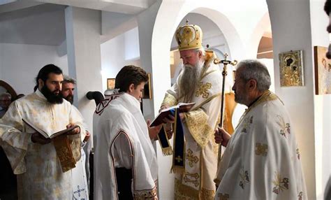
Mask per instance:
[[[158,166],[151,138],[160,126],[149,128],[139,100],[147,73],[124,66],[116,76],[117,98],[98,110],[94,152],[94,199],[157,199]]]

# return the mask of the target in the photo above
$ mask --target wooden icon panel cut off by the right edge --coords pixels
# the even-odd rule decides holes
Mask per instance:
[[[328,48],[314,46],[315,94],[331,94],[331,63],[326,52]]]

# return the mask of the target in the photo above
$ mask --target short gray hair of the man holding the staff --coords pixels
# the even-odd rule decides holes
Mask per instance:
[[[240,69],[240,71],[239,71]],[[267,71],[267,67],[256,59],[244,59],[238,66],[236,76],[244,79],[246,82],[250,79],[254,79],[257,82],[258,91],[264,92],[269,90],[271,85],[270,74]]]

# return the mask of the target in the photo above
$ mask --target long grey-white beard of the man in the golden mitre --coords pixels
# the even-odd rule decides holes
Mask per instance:
[[[199,61],[194,66],[184,64],[184,71],[179,83],[179,96],[184,97],[184,103],[190,103],[196,93],[201,69],[203,69],[203,61]]]

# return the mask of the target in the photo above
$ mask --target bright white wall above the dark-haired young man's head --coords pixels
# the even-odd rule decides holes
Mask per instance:
[[[135,40],[135,41],[134,41]],[[131,29],[101,44],[102,88],[107,90],[107,78],[115,78],[128,64],[140,66],[138,28]]]

